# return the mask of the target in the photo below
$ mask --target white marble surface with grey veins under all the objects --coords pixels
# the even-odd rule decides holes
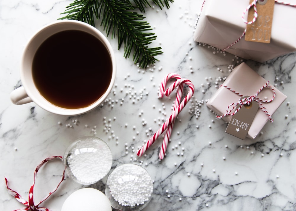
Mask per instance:
[[[273,115],[274,122],[268,122],[255,140],[225,134],[225,122],[215,119],[205,101],[217,90],[216,79],[221,77],[221,84],[229,75],[229,68],[242,60],[229,53],[213,53],[215,49],[194,42],[194,23],[201,0],[175,0],[170,9],[147,9],[146,20],[157,35],[152,46],[161,46],[164,52],[157,57],[160,61],[155,69],[139,69],[131,59],[123,57],[123,49],[117,50],[117,40],[108,37],[115,50],[118,74],[115,93],[110,94],[104,106],[79,116],[59,116],[34,103],[13,105],[9,95],[21,85],[19,67],[25,43],[40,27],[62,17],[60,13],[71,2],[0,1],[0,210],[22,207],[8,194],[4,176],[10,187],[27,199],[36,166],[49,156],[63,155],[76,138],[94,135],[94,126],[96,136],[112,150],[112,168],[142,162],[155,181],[152,200],[144,210],[296,210],[296,54],[263,64],[246,61],[266,80],[277,84],[288,98]],[[171,72],[194,83],[192,104],[183,109],[176,121],[165,159],[158,159],[162,139],[154,143],[146,157],[138,158],[138,147],[171,113],[174,97],[157,98],[162,78]],[[198,118],[190,112],[194,110],[192,106],[200,109]],[[108,133],[104,130],[104,117],[110,127]],[[77,125],[72,122],[75,119]],[[66,127],[67,124],[73,127]],[[34,192],[36,202],[57,185],[62,171],[59,160],[42,167]],[[83,186],[67,178],[42,205],[58,211],[73,191],[82,187],[104,191],[105,181],[106,178]]]

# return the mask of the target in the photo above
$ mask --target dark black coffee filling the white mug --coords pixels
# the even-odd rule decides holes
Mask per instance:
[[[55,106],[84,108],[108,89],[112,60],[105,45],[80,30],[47,38],[35,53],[32,76],[40,94]]]

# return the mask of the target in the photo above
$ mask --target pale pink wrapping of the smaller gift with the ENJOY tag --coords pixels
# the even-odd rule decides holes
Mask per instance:
[[[245,63],[242,63],[234,68],[233,72],[229,74],[229,77],[223,83],[223,85],[226,85],[227,87],[235,90],[236,92],[239,92],[244,96],[255,95],[256,92],[265,84],[266,80],[263,79],[259,74],[254,72]],[[281,93],[271,84],[268,85],[274,88],[276,96],[271,103],[263,103],[263,106],[266,108],[268,113],[272,115],[284,102],[287,96]],[[264,98],[267,97],[267,100],[270,100],[273,98],[273,92],[271,89],[266,87],[259,93],[257,97],[262,100],[266,100]],[[240,98],[241,97],[239,95],[226,89],[225,87],[220,87],[212,96],[212,98],[210,98],[210,100],[207,102],[207,107],[213,110],[218,116],[221,116],[226,113],[226,109],[229,104],[237,103]],[[231,116],[225,116],[223,119],[226,122],[229,122]],[[247,137],[255,139],[267,121],[269,121],[268,116],[259,108],[255,115],[253,123],[250,126]]]

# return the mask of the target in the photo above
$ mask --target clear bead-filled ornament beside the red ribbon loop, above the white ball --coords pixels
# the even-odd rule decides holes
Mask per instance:
[[[76,139],[63,158],[67,175],[83,185],[94,184],[104,178],[111,169],[112,160],[109,146],[94,136]]]

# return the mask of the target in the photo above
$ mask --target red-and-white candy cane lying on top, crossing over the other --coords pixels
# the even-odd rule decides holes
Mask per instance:
[[[170,117],[164,122],[164,124],[160,127],[160,129],[157,130],[157,132],[144,144],[144,146],[137,152],[138,156],[142,156],[146,150],[155,142],[155,140],[168,128],[168,126],[173,122],[174,119],[178,116],[178,114],[182,111],[184,106],[189,102],[190,98],[192,97],[194,93],[194,85],[191,81],[188,79],[178,79],[175,81],[170,87],[165,91],[165,96],[169,96],[170,93],[179,85],[181,84],[187,84],[189,87],[189,92],[185,96],[185,98],[182,100],[178,108],[173,111],[173,113],[170,115]]]

